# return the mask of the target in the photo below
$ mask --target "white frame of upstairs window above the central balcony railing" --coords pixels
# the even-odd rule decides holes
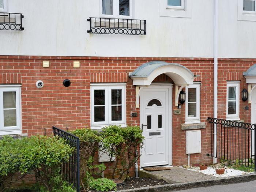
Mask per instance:
[[[113,15],[102,14],[102,0],[99,0],[99,15],[102,18],[117,18],[117,19],[132,19],[134,0],[130,0],[129,13],[130,15],[119,15],[119,0],[113,0]]]

